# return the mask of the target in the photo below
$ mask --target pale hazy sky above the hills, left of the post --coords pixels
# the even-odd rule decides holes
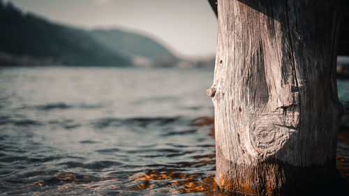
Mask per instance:
[[[216,52],[218,24],[207,0],[8,1],[70,26],[141,32],[178,56],[203,58]]]

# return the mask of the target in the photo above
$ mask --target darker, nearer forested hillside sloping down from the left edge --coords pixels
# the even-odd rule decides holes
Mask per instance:
[[[131,61],[87,31],[47,22],[0,1],[0,65],[128,66]]]

